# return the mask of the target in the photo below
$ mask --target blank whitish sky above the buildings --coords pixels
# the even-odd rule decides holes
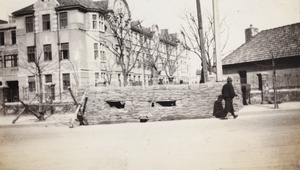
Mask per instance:
[[[202,14],[211,13],[212,0],[200,0]],[[36,0],[0,0],[0,19]],[[196,13],[196,0],[127,0],[133,20],[144,26],[157,24],[160,29],[179,32],[184,11]],[[300,22],[300,0],[219,0],[220,18],[226,17],[229,40],[225,53],[245,42],[244,30],[252,24],[261,30]],[[204,23],[205,25],[205,23]],[[222,37],[221,37],[222,38]]]

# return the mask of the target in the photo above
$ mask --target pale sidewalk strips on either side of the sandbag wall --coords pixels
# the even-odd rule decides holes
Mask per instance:
[[[274,109],[274,104],[256,104],[256,105],[247,105],[243,106],[237,114],[246,115],[246,114],[265,114],[280,112],[283,110],[299,110],[300,113],[300,102],[286,102],[279,104],[278,109]],[[0,116],[0,128],[5,126],[10,127],[19,127],[19,126],[69,126],[69,122],[72,113],[68,114],[54,114],[51,117],[47,118],[46,121],[39,121],[33,115],[24,115],[21,116],[15,124],[12,124],[12,121],[17,117],[17,115],[8,115]]]

